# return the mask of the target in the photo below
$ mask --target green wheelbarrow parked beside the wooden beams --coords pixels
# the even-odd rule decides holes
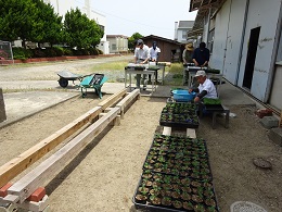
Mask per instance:
[[[95,93],[102,99],[101,88],[103,84],[107,80],[107,77],[104,74],[92,74],[82,78],[79,87],[81,89],[82,98],[87,96],[88,88],[94,88]]]

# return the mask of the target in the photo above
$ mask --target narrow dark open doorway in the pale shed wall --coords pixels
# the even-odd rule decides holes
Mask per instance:
[[[246,57],[246,65],[245,65],[245,74],[243,79],[243,87],[248,89],[251,89],[252,87],[259,33],[260,33],[260,27],[251,29],[248,50]]]

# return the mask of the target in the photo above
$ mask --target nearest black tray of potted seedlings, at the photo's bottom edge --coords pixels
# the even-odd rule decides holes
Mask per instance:
[[[143,172],[132,201],[138,209],[149,211],[195,211],[194,207],[218,212],[214,186],[187,177]],[[178,205],[174,203],[179,203]],[[213,202],[213,207],[209,205]],[[189,209],[188,205],[193,208]],[[200,210],[201,211],[201,210]]]

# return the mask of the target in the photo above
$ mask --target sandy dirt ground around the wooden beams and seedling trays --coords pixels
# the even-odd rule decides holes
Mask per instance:
[[[0,164],[52,135],[99,101],[76,97],[0,129]],[[158,120],[165,104],[165,99],[141,97],[119,126],[106,128],[50,176],[46,185],[50,211],[134,211],[131,199],[153,135],[162,130]],[[268,130],[254,115],[255,108],[230,105],[230,109],[236,117],[230,120],[228,129],[222,117],[218,117],[217,128],[213,129],[207,116],[196,130],[197,137],[207,142],[219,210],[228,212],[235,201],[251,201],[269,212],[281,212],[281,147],[268,139]],[[256,167],[255,158],[271,162],[272,169]]]

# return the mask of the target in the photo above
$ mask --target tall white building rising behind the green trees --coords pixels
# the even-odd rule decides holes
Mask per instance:
[[[85,13],[88,18],[94,20],[98,25],[104,30],[104,36],[101,39],[98,48],[104,52],[104,54],[108,54],[108,42],[106,41],[106,17],[103,14],[100,14],[91,9],[90,0],[85,0],[85,4],[78,4],[76,0],[44,0],[46,3],[50,3],[54,7],[54,11],[64,16],[67,11],[70,9],[78,8],[81,13]]]

